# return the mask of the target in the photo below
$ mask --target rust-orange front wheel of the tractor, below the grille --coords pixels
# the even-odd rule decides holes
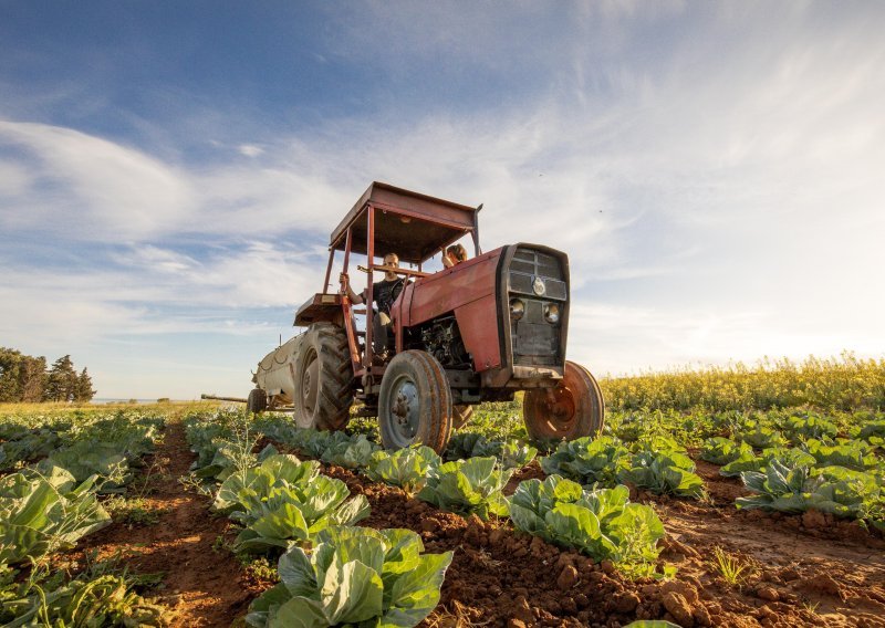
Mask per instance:
[[[525,391],[522,419],[529,436],[537,440],[593,436],[605,421],[600,385],[586,368],[566,362],[559,386]]]

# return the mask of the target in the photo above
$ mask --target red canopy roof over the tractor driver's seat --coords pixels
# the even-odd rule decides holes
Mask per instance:
[[[332,231],[330,249],[367,253],[368,210],[375,208],[377,257],[397,253],[402,262],[420,263],[477,229],[478,208],[374,181]]]

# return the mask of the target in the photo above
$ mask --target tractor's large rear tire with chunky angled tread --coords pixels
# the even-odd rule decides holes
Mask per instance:
[[[313,323],[304,333],[294,366],[295,423],[327,431],[347,427],[353,366],[344,329],[332,323]]]

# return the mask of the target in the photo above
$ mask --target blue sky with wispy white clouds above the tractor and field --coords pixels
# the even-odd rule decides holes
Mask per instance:
[[[882,358],[883,32],[873,1],[0,0],[0,346],[101,398],[244,396],[382,180],[565,251],[597,376]]]

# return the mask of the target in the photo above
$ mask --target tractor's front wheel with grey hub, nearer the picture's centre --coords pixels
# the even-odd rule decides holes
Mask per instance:
[[[396,354],[381,381],[378,426],[385,449],[426,444],[439,454],[451,436],[451,390],[430,354]]]

